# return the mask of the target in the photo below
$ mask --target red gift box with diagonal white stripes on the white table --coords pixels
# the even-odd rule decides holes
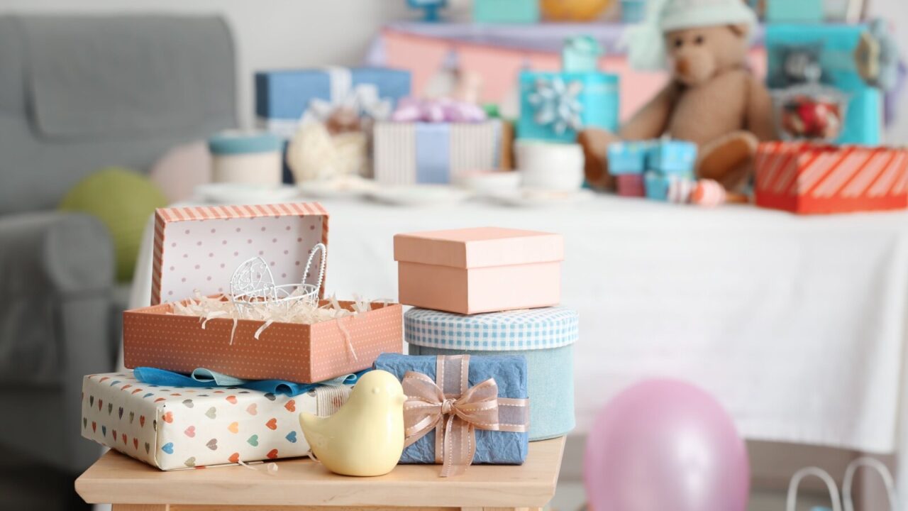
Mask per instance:
[[[756,204],[798,214],[908,207],[908,150],[767,142],[757,149]]]

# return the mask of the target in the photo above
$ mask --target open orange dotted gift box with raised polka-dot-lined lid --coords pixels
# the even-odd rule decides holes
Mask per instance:
[[[159,209],[154,219],[152,306],[123,313],[123,360],[129,368],[189,373],[205,367],[244,379],[314,383],[366,369],[381,353],[400,353],[402,308],[370,310],[311,325],[173,314],[195,294],[226,293],[234,270],[262,257],[275,280],[301,282],[314,245],[328,244],[319,204]],[[318,283],[317,271],[307,284]],[[318,295],[324,294],[324,284]],[[325,305],[324,300],[321,305]],[[339,302],[352,311],[353,302]],[[264,326],[264,328],[262,328]]]

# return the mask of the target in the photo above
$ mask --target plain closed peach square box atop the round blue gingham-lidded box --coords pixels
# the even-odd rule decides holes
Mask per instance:
[[[401,304],[478,314],[558,305],[561,235],[477,227],[394,236]]]

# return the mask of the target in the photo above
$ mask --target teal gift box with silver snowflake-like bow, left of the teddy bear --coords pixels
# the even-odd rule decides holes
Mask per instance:
[[[599,71],[520,73],[518,138],[574,142],[577,131],[618,127],[618,77]]]

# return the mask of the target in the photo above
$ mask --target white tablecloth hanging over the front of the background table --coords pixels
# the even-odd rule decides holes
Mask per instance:
[[[580,313],[577,424],[621,388],[704,387],[749,439],[892,452],[902,383],[908,215],[798,217],[597,197],[550,209],[323,201],[329,293],[397,296],[396,233],[500,225],[562,233]],[[146,233],[133,290],[147,304]]]

